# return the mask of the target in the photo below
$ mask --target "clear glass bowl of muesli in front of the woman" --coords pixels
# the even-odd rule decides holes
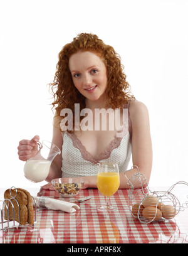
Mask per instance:
[[[52,179],[51,183],[60,196],[63,198],[73,198],[78,195],[81,188],[83,188],[84,179],[79,177],[57,178]]]

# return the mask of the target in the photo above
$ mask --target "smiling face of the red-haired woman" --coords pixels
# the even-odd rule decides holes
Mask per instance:
[[[73,83],[86,102],[105,100],[107,68],[99,56],[91,51],[78,51],[70,56],[69,68]]]

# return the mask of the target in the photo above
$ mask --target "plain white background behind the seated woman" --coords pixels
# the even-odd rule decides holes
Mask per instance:
[[[150,186],[188,182],[188,1],[0,1],[0,187],[39,187],[24,178],[21,139],[51,141],[48,83],[58,53],[82,32],[112,45],[137,100],[149,109]],[[131,165],[131,164],[130,164]]]

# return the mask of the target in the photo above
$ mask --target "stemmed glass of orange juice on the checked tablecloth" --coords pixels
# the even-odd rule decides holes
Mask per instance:
[[[98,207],[100,211],[115,211],[117,207],[110,204],[110,196],[115,194],[120,186],[120,176],[117,163],[102,162],[98,166],[97,188],[106,196],[106,204]]]

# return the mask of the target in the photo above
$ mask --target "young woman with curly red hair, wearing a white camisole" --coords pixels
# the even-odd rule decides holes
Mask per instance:
[[[149,182],[149,113],[130,93],[120,57],[112,46],[105,45],[97,35],[81,33],[60,51],[50,85],[56,110],[52,142],[61,149],[61,156],[56,156],[51,164],[48,184],[43,189],[53,189],[51,179],[72,176],[83,176],[85,188],[97,188],[101,161],[118,163],[120,188],[129,188],[124,172],[131,155],[132,163]],[[70,119],[65,110],[72,113]],[[102,117],[98,115],[101,110]],[[19,159],[26,161],[34,156],[37,141],[39,136],[20,141]],[[126,175],[130,178],[136,172],[137,169],[131,169]]]

